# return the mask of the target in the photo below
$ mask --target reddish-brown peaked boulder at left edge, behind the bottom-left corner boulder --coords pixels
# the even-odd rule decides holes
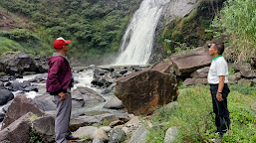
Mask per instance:
[[[32,112],[39,116],[44,115],[44,112],[37,107],[36,103],[31,98],[27,98],[23,94],[17,95],[6,112],[1,129],[4,129],[28,112]]]

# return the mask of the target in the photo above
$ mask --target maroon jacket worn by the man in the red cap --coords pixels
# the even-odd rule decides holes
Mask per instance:
[[[48,65],[47,91],[52,95],[57,95],[61,91],[67,92],[72,78],[68,60],[62,56],[53,56],[48,58]]]

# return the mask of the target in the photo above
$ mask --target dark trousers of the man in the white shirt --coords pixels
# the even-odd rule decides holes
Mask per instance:
[[[217,127],[217,131],[223,134],[223,131],[229,129],[230,125],[229,111],[227,108],[227,96],[230,90],[228,85],[225,83],[222,90],[222,101],[218,101],[216,98],[217,90],[218,84],[210,84],[213,112],[215,113],[215,125]]]

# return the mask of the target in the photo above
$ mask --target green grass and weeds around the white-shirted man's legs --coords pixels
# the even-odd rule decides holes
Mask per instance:
[[[230,88],[231,125],[220,142],[256,142],[256,112],[250,107],[256,99],[256,88],[238,84],[230,85]],[[244,92],[244,88],[249,91]],[[150,122],[153,125],[167,123],[157,129],[148,127],[147,142],[163,142],[166,130],[173,126],[179,130],[175,142],[213,142],[212,139],[218,138],[212,134],[216,127],[208,85],[184,88],[177,102],[179,105],[162,107],[152,115]]]

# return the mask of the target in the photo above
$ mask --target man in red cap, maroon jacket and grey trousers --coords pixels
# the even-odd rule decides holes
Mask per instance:
[[[46,81],[47,91],[54,95],[57,103],[57,114],[55,119],[55,134],[57,143],[66,143],[67,140],[78,140],[72,136],[69,130],[72,97],[72,72],[66,53],[69,51],[70,40],[58,38],[54,41],[56,53],[48,58],[48,77]]]

